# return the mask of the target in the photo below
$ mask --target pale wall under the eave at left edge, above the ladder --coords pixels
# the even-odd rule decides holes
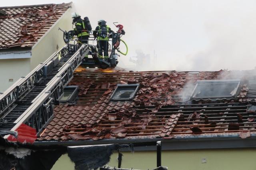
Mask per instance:
[[[21,76],[30,72],[30,58],[0,60],[0,92],[4,92]],[[9,81],[13,79],[13,81]]]

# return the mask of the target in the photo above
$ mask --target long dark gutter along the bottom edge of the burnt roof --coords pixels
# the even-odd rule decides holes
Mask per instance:
[[[129,144],[133,143],[135,151],[156,150],[150,143],[162,142],[162,150],[188,150],[188,149],[246,149],[256,148],[256,135],[241,139],[240,137],[202,137],[202,138],[172,138],[172,139],[104,139],[99,141],[36,141],[35,146],[81,146],[81,145],[103,145],[103,144]],[[128,151],[128,149],[123,149]]]

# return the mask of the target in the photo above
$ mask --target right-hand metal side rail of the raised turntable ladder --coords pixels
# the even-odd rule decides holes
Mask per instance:
[[[36,129],[38,133],[47,125],[53,115],[53,104],[64,94],[64,87],[72,80],[74,70],[89,52],[89,45],[81,45],[74,55],[58,70],[46,88],[32,101],[32,105],[14,122],[16,130],[21,123]]]

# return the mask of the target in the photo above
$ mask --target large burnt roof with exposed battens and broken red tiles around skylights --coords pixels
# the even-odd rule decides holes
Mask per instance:
[[[124,72],[76,70],[75,104],[60,104],[38,141],[250,137],[256,133],[255,70]],[[190,100],[197,80],[240,79],[234,98]],[[117,84],[140,84],[131,101],[113,102]]]

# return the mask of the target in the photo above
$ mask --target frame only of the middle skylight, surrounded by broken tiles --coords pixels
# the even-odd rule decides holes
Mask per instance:
[[[129,101],[132,100],[136,93],[140,88],[140,84],[117,84],[116,89],[114,90],[113,94],[110,96],[111,101]],[[134,92],[130,95],[130,98],[114,98],[116,93],[120,90],[134,90]]]

